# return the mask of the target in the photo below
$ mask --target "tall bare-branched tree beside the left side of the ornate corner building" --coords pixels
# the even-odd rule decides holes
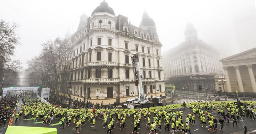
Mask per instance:
[[[54,41],[49,40],[42,44],[42,53],[28,61],[29,69],[38,72],[44,84],[51,85],[52,89],[58,92],[57,88],[60,72],[65,66],[65,57],[68,54],[68,42],[57,37]]]

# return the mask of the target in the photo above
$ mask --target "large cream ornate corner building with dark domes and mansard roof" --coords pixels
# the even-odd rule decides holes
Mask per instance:
[[[113,104],[137,96],[131,49],[139,55],[144,93],[165,95],[162,44],[155,22],[146,12],[136,27],[126,16],[116,16],[103,1],[90,17],[81,16],[69,42],[71,49],[60,78],[65,84],[58,87],[61,95],[69,96],[71,84],[71,98],[80,102]]]

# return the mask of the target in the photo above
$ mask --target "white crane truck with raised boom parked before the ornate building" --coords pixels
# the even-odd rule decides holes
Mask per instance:
[[[135,98],[127,99],[126,102],[123,104],[125,108],[148,108],[154,106],[161,106],[162,105],[162,98],[153,96],[148,98],[148,95],[144,95],[143,88],[142,88],[142,75],[140,75],[140,66],[139,66],[139,57],[136,54],[136,50],[132,50],[132,65],[133,65],[133,73],[135,79],[135,87],[138,88],[139,96]]]

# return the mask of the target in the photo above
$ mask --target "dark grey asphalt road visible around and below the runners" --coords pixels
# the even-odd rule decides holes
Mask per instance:
[[[20,106],[18,106],[18,109],[20,109]],[[187,114],[189,112],[189,109],[188,108],[186,108],[185,110],[182,109],[182,111],[183,111],[183,115],[187,116]],[[154,115],[154,113],[152,115]],[[214,115],[214,117],[217,117],[217,119],[219,120],[219,116],[216,116],[216,113],[213,113],[213,115]],[[153,120],[153,116],[151,116],[151,117],[152,117],[151,120]],[[119,134],[119,133],[131,134],[132,130],[133,130],[133,127],[134,127],[134,125],[131,123],[132,120],[133,120],[133,117],[128,117],[127,118],[127,121],[126,121],[127,128],[125,130],[119,130],[119,125],[114,123],[114,126],[116,128],[113,129],[112,134]],[[256,133],[256,131],[253,132],[254,130],[256,130],[256,120],[251,121],[250,118],[246,118],[246,117],[245,117],[244,120],[245,120],[244,123],[247,126],[247,129],[249,130],[249,132],[250,133]],[[230,121],[232,121],[232,120],[230,120]],[[58,134],[75,134],[76,133],[76,130],[72,130],[74,128],[73,125],[70,125],[69,127],[65,126],[65,128],[63,129],[63,128],[59,128],[59,125],[49,126],[49,125],[43,125],[41,123],[40,124],[33,124],[33,122],[36,122],[36,121],[34,121],[34,120],[26,120],[25,121],[25,120],[22,120],[22,119],[18,119],[17,122],[14,121],[14,123],[12,125],[57,128]],[[59,120],[53,120],[52,124],[58,123],[58,122],[59,122]],[[90,129],[90,124],[87,123],[85,125],[85,127],[82,128],[82,130],[79,130],[79,132],[83,133],[83,134],[84,133],[86,133],[86,134],[91,134],[91,133],[105,134],[106,131],[107,131],[107,128],[103,128],[103,126],[101,124],[102,122],[103,122],[102,120],[97,120],[95,130],[93,130],[92,128]],[[149,130],[147,130],[146,127],[145,127],[146,123],[147,123],[146,120],[141,121],[140,129],[138,129],[140,134],[148,134],[149,133]],[[206,128],[202,128],[201,127],[202,125],[198,125],[198,123],[199,123],[199,119],[196,118],[196,125],[191,125],[190,124],[190,130],[191,130],[192,134],[208,134],[208,133],[211,134],[211,133],[213,133],[211,130],[208,132]],[[162,124],[163,124],[163,122],[162,122]],[[233,122],[230,122],[229,125],[226,125],[224,123],[223,132],[219,131],[221,126],[218,124],[218,129],[215,132],[215,134],[230,134],[230,133],[239,134],[239,133],[241,133],[242,123],[238,122],[239,127],[235,126],[234,128],[232,127],[232,124],[233,124]],[[207,123],[207,125],[209,125],[209,124]],[[3,134],[2,132],[5,132],[6,129],[7,129],[7,127],[3,128],[3,125],[1,125],[0,126],[0,134]],[[157,133],[158,134],[170,134],[170,131],[165,130],[162,126],[162,131],[157,130]],[[177,132],[177,133],[182,134],[182,132]]]

